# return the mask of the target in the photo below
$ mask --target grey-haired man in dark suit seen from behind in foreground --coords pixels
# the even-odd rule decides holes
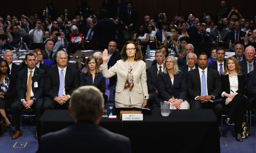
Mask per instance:
[[[88,96],[85,96],[88,95]],[[91,96],[90,96],[91,95]],[[75,124],[47,133],[39,140],[38,152],[111,152],[130,153],[129,138],[98,126],[104,99],[94,86],[82,86],[71,96],[69,112]]]

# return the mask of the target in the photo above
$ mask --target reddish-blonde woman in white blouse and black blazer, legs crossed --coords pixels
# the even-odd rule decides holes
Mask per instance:
[[[230,126],[230,120],[234,117],[235,127],[234,134],[236,141],[243,142],[242,139],[242,122],[244,113],[244,102],[247,98],[244,96],[245,92],[245,75],[240,71],[240,67],[236,58],[233,56],[227,59],[225,70],[221,74],[223,108],[228,109],[226,125]]]

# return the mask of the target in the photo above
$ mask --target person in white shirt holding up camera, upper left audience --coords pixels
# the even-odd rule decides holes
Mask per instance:
[[[36,20],[36,27],[29,31],[34,43],[43,43],[43,26],[41,20]]]

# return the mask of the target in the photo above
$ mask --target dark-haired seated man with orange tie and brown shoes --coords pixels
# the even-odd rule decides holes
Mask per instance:
[[[36,57],[34,54],[27,54],[25,56],[27,68],[21,70],[17,76],[17,99],[11,104],[11,114],[15,126],[15,133],[12,135],[12,139],[17,139],[22,136],[20,110],[35,110],[36,124],[41,115],[45,71],[36,67],[35,60]],[[35,139],[37,139],[37,131],[35,132]]]

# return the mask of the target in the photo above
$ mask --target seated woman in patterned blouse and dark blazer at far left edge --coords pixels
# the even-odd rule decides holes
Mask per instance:
[[[1,76],[1,91],[0,91],[0,114],[5,120],[6,127],[11,128],[11,123],[6,117],[5,110],[10,108],[16,97],[14,76],[10,75],[8,63],[0,60],[0,76]]]

